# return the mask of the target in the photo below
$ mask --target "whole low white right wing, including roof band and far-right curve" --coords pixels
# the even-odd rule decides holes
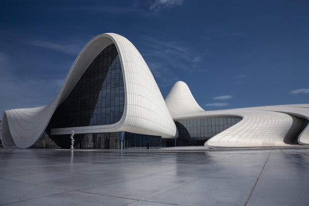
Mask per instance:
[[[209,113],[242,117],[239,123],[205,142],[205,146],[209,148],[309,145],[309,104],[211,111],[208,115]]]

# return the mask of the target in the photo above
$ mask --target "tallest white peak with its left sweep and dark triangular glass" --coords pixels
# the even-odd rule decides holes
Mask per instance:
[[[4,148],[28,148],[51,136],[131,133],[176,138],[177,128],[135,46],[102,34],[79,53],[58,95],[47,106],[8,110],[2,116]],[[105,140],[106,141],[106,140]]]

